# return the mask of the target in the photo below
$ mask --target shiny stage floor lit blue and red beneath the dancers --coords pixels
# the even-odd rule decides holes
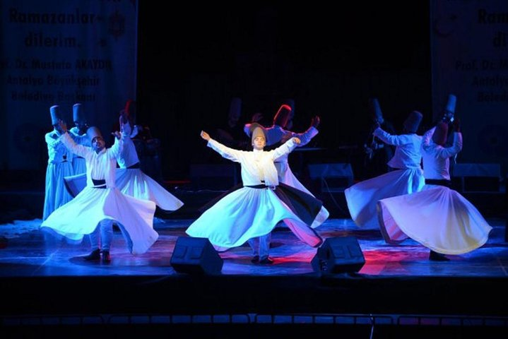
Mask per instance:
[[[0,225],[0,235],[7,238],[0,249],[0,276],[62,275],[174,275],[170,258],[178,237],[193,220],[156,218],[160,234],[150,250],[141,256],[127,251],[122,234],[114,232],[112,262],[87,262],[81,256],[90,252],[88,239],[70,244],[38,230],[41,220],[15,221]],[[360,230],[350,219],[331,219],[317,229],[323,238],[353,236],[358,239],[365,265],[358,272],[371,277],[394,276],[463,276],[508,277],[508,244],[504,242],[504,220],[490,219],[493,230],[488,243],[468,254],[449,256],[447,262],[428,260],[429,250],[413,240],[398,246],[386,244],[378,230]],[[276,227],[272,234],[273,265],[251,263],[247,244],[220,254],[223,275],[301,275],[313,273],[310,261],[316,249],[306,246],[286,227]]]

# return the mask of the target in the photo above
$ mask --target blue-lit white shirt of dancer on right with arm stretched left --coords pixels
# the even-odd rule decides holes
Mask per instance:
[[[394,136],[380,127],[374,130],[374,136],[377,136],[384,143],[396,146],[395,154],[388,162],[390,167],[397,169],[420,168],[420,162],[422,161],[421,136],[415,133]]]

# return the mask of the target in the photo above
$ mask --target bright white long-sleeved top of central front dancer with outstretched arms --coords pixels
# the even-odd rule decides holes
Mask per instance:
[[[284,155],[288,155],[297,146],[294,138],[286,141],[275,150],[235,150],[210,139],[208,147],[215,150],[226,159],[240,162],[242,165],[242,182],[244,186],[265,184],[266,186],[278,185],[278,174],[273,162]]]

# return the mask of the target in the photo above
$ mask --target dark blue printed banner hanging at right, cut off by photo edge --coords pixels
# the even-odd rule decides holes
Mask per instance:
[[[508,169],[508,1],[433,0],[432,105],[457,97],[463,150],[457,162]]]

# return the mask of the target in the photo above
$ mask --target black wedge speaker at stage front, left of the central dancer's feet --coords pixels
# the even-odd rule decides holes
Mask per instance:
[[[206,238],[178,237],[171,266],[179,273],[219,274],[223,259]]]

